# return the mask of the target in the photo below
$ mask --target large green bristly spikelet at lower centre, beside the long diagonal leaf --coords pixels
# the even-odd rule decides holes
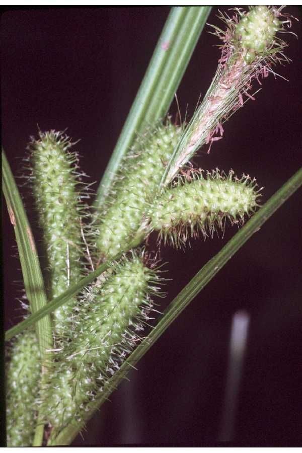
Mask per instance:
[[[75,308],[69,343],[57,354],[48,399],[41,409],[56,429],[81,420],[90,403],[136,346],[152,309],[150,293],[159,293],[155,270],[143,254],[124,257],[83,295]]]

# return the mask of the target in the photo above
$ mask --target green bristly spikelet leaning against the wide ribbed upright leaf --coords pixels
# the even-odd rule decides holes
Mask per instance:
[[[96,243],[101,258],[114,256],[135,238],[180,134],[181,128],[167,121],[137,137],[121,164],[106,209],[99,215]]]

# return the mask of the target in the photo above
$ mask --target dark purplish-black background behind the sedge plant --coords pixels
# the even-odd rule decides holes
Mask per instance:
[[[169,7],[11,10],[2,16],[2,136],[13,172],[30,135],[63,130],[82,155],[82,169],[100,181]],[[221,7],[225,11],[226,7]],[[292,63],[276,67],[256,101],[224,125],[204,169],[233,168],[265,186],[265,202],[300,166],[301,10],[282,35]],[[220,26],[213,7],[208,22]],[[206,27],[206,30],[210,30]],[[217,38],[203,33],[177,92],[188,117],[213,77]],[[258,88],[258,87],[257,87]],[[256,85],[255,85],[256,89]],[[170,112],[175,115],[173,103]],[[97,187],[97,184],[95,187]],[[183,442],[218,439],[228,362],[230,327],[240,309],[250,315],[234,439],[244,444],[292,444],[301,436],[301,215],[296,192],[170,326],[88,424],[74,444]],[[20,321],[16,300],[18,261],[14,232],[4,208],[6,328]],[[162,248],[169,261],[168,305],[190,278],[235,233],[191,242],[186,252]]]

